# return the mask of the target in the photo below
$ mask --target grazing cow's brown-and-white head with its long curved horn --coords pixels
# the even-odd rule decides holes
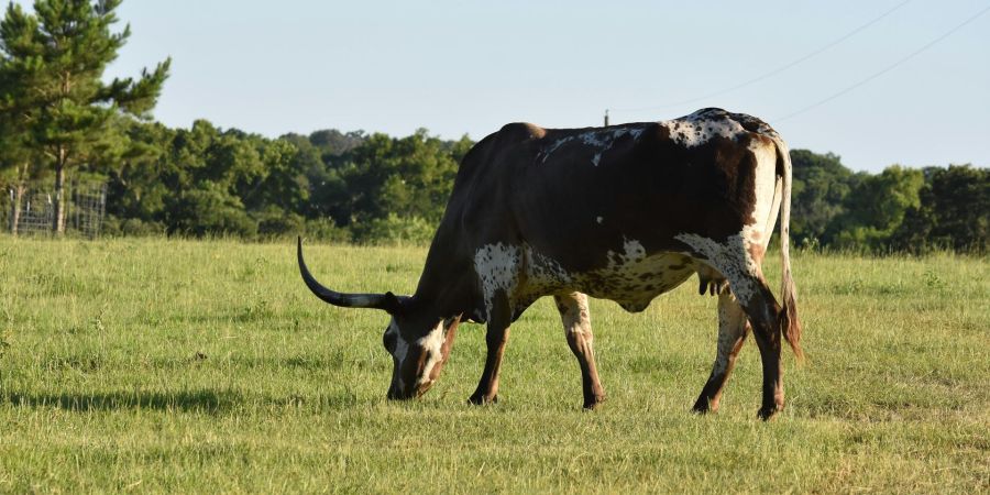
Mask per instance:
[[[344,294],[331,290],[314,278],[302,260],[302,239],[297,256],[302,280],[320,299],[346,308],[381,309],[392,316],[382,343],[392,354],[389,399],[409,399],[425,394],[440,376],[450,355],[460,316],[442,318],[431,315],[415,297],[385,294]]]

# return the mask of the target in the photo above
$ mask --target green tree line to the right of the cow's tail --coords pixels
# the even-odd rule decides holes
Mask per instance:
[[[971,165],[853,173],[838,156],[791,152],[791,232],[799,246],[986,253],[990,169]]]

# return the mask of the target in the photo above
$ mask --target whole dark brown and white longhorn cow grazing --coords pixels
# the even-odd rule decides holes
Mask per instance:
[[[473,404],[494,403],[509,324],[553,296],[578,358],[584,407],[605,398],[592,346],[587,297],[642,311],[697,274],[718,295],[715,363],[694,410],[718,407],[751,331],[763,366],[759,416],[783,408],[781,336],[801,358],[791,276],[791,162],[763,121],[703,109],[661,122],[587,129],[512,123],[461,163],[416,294],[344,294],[309,273],[306,285],[336,306],[392,316],[383,338],[394,369],[387,397],[436,383],[458,323],[487,323],[487,358]],[[780,213],[782,306],[761,271]]]

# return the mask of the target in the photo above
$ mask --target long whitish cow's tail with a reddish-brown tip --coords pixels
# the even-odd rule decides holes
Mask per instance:
[[[799,361],[804,359],[801,350],[801,321],[798,319],[798,290],[794,287],[794,277],[791,276],[791,152],[788,145],[777,136],[778,173],[781,175],[782,193],[780,199],[780,261],[783,273],[781,274],[780,297],[782,307],[779,316],[780,329],[784,339],[791,344],[794,355]]]

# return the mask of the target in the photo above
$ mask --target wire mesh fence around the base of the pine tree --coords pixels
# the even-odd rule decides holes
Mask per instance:
[[[97,238],[107,211],[107,185],[73,182],[65,186],[65,229]],[[10,187],[0,208],[2,226],[14,235],[51,235],[55,226],[55,193],[50,186]]]

